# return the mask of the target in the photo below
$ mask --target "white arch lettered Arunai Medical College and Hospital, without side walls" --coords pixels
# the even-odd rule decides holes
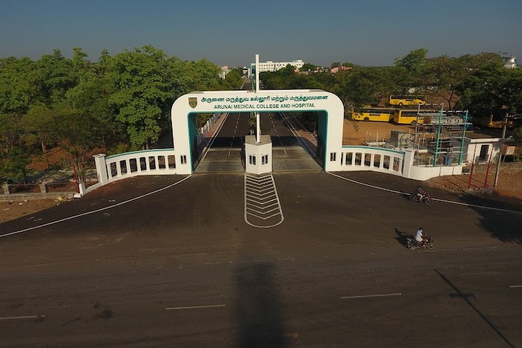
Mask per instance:
[[[322,111],[318,127],[318,153],[324,170],[335,171],[330,153],[342,150],[344,108],[339,97],[324,90],[246,90],[193,92],[177,98],[172,106],[171,120],[179,174],[191,174],[195,160],[196,123],[191,113]],[[336,157],[336,156],[334,156]]]

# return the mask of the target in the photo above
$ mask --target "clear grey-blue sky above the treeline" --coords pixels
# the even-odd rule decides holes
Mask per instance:
[[[256,8],[255,3],[259,4]],[[81,47],[90,61],[153,45],[218,65],[303,59],[316,65],[392,65],[429,57],[507,52],[522,63],[522,0],[2,0],[0,58],[38,59]]]

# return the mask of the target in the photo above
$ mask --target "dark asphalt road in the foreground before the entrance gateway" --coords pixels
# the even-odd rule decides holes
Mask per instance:
[[[0,238],[0,346],[522,347],[522,214],[285,173],[283,223],[254,228],[244,175],[183,179],[122,180],[1,224],[86,214]],[[434,250],[402,245],[420,225]]]

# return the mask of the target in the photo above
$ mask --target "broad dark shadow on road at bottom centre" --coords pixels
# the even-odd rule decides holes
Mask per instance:
[[[235,347],[290,347],[285,337],[274,265],[242,264],[236,269],[236,311],[239,337]]]

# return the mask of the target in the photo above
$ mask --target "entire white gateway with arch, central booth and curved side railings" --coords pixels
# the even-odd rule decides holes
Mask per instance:
[[[414,149],[394,150],[371,146],[343,146],[344,108],[340,99],[324,90],[246,90],[194,92],[179,97],[172,106],[171,122],[174,147],[143,150],[118,155],[95,155],[98,183],[86,189],[80,185],[79,196],[115,180],[136,175],[190,175],[198,160],[197,113],[292,112],[317,111],[317,161],[324,171],[379,171],[416,180],[441,175],[458,175],[462,166],[414,166]],[[259,127],[258,127],[259,129]],[[248,139],[248,138],[251,139]],[[246,136],[246,157],[271,155],[271,142]],[[252,138],[253,141],[252,141]],[[269,145],[268,145],[269,144]],[[258,161],[259,162],[259,161]],[[271,163],[271,161],[268,161]],[[264,161],[263,161],[264,164]],[[246,163],[248,171],[248,162]],[[271,171],[268,166],[261,172]]]

